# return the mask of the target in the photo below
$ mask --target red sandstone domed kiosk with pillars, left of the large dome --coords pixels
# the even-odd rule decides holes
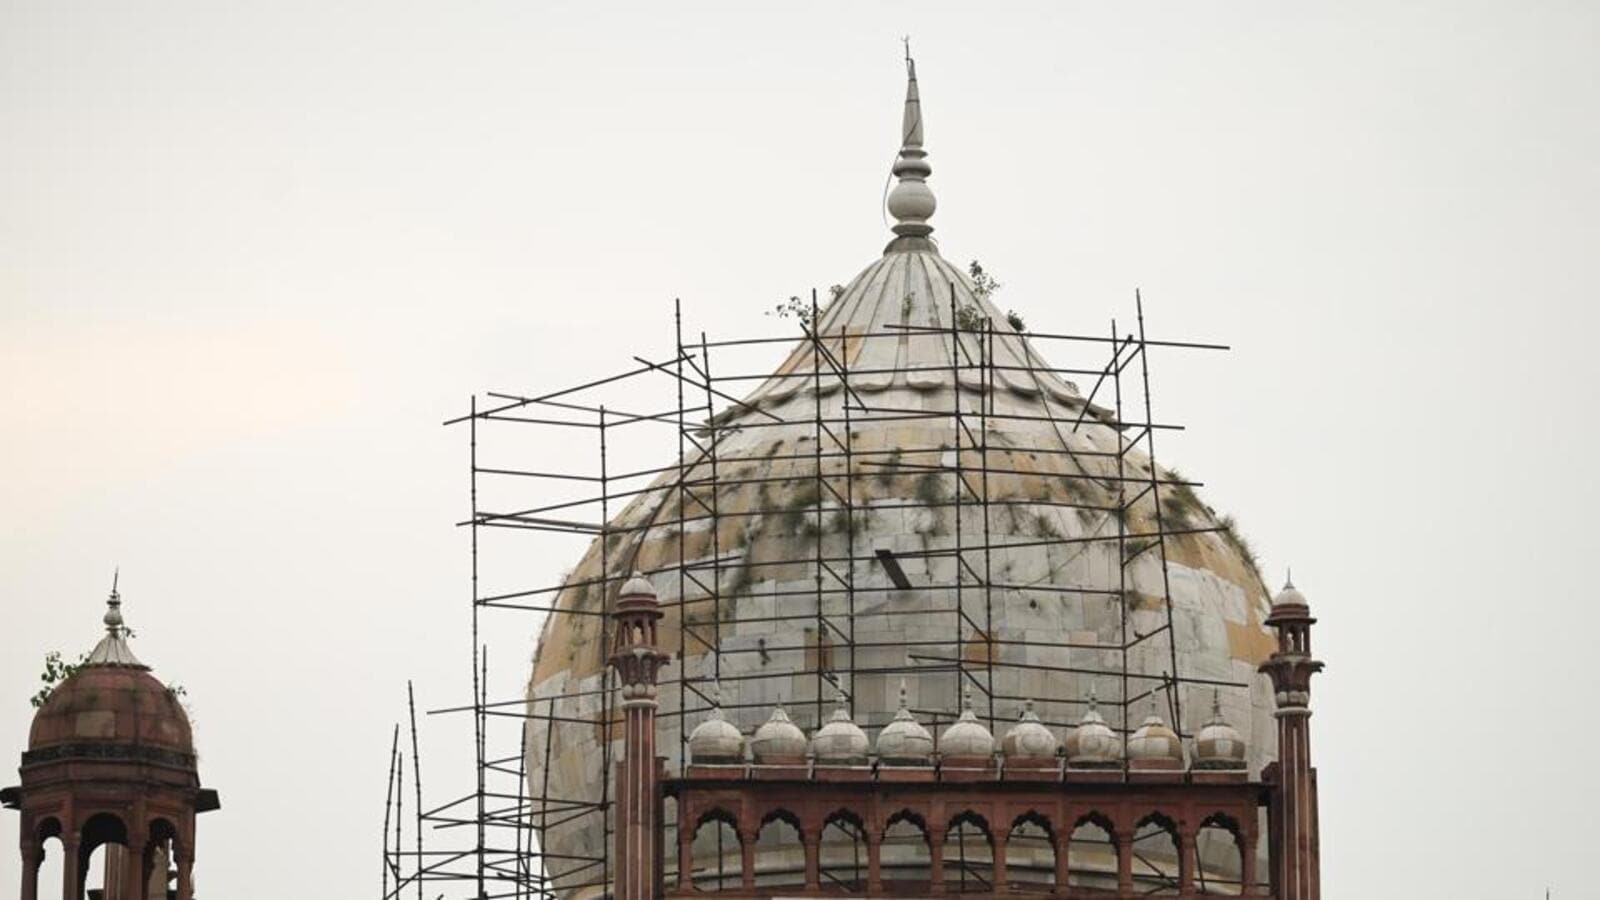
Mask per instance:
[[[112,589],[106,636],[34,716],[22,785],[0,791],[22,814],[22,900],[37,900],[45,844],[59,839],[62,894],[83,897],[93,852],[107,846],[107,900],[194,895],[195,815],[218,809],[200,786],[178,695],[128,647]],[[168,863],[176,887],[168,889]]]

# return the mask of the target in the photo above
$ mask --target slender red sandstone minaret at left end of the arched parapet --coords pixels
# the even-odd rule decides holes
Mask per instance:
[[[656,673],[667,655],[656,649],[661,602],[634,573],[622,585],[611,637],[611,666],[621,682],[622,759],[616,770],[616,900],[661,895],[661,812],[656,770]]]

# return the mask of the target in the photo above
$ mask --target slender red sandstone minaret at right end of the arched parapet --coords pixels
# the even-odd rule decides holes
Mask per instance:
[[[1317,847],[1317,770],[1310,765],[1310,676],[1322,663],[1310,655],[1310,615],[1294,583],[1272,601],[1267,625],[1278,633],[1278,649],[1261,671],[1272,679],[1278,719],[1278,791],[1272,810],[1274,897],[1318,900],[1322,876]]]

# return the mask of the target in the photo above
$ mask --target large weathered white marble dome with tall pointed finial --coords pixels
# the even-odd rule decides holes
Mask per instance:
[[[963,666],[982,669],[987,681],[989,697],[976,709],[990,732],[1008,727],[1024,698],[1064,729],[1093,692],[1107,724],[1126,733],[1144,714],[1130,701],[1163,684],[1176,665],[1184,679],[1250,685],[1224,689],[1222,705],[1251,748],[1251,769],[1270,759],[1272,700],[1256,676],[1274,647],[1262,625],[1270,601],[1248,551],[1232,532],[1206,530],[1219,519],[1190,488],[1165,484],[1165,528],[1184,532],[1165,538],[1165,569],[1152,540],[1115,540],[1118,530],[1158,530],[1157,492],[1142,490],[1152,479],[1149,458],[1126,452],[1118,480],[1117,455],[1130,437],[1102,408],[1104,394],[1090,404],[1078,386],[1048,372],[1032,341],[1006,327],[986,291],[933,243],[915,77],[902,138],[896,191],[906,197],[890,205],[896,237],[818,315],[822,370],[803,340],[742,404],[709,423],[717,516],[685,508],[674,468],[658,479],[661,490],[611,519],[622,535],[606,552],[614,572],[602,572],[597,540],[570,575],[574,586],[560,593],[557,609],[578,615],[546,620],[528,682],[538,717],[528,722],[526,765],[538,793],[598,801],[608,777],[598,727],[544,717],[544,698],[563,695],[571,698],[555,708],[558,716],[600,713],[603,617],[584,613],[605,612],[614,597],[592,583],[675,570],[680,552],[682,564],[702,565],[701,578],[710,577],[714,557],[722,562],[715,599],[693,580],[654,580],[666,609],[661,644],[682,649],[669,676],[709,682],[720,668],[723,711],[746,733],[776,703],[806,732],[821,725],[834,689],[816,673],[829,668],[854,673],[853,716],[869,735],[894,717],[902,677],[918,717],[942,730],[962,709]],[[974,367],[979,359],[989,367]],[[957,404],[965,424],[950,415]],[[866,415],[862,405],[878,413]],[[818,418],[848,421],[830,429],[832,439],[848,431],[850,455],[818,453]],[[704,458],[682,463],[686,480],[712,479]],[[982,472],[987,503],[955,503],[957,468]],[[1170,469],[1154,476],[1181,480]],[[981,533],[989,551],[968,554],[963,575],[955,548],[974,546]],[[830,578],[848,581],[848,593],[818,589],[818,557],[835,560]],[[680,585],[690,586],[686,596]],[[950,612],[957,605],[965,615]],[[774,618],[778,612],[787,618]],[[821,637],[818,621],[829,623]],[[846,621],[851,639],[832,637],[829,629]],[[693,641],[683,641],[685,626]],[[1131,679],[1104,674],[1122,666]],[[1210,709],[1211,687],[1179,684],[1178,695],[1187,709]],[[683,697],[690,709],[678,716]],[[706,706],[693,693],[661,690],[656,746],[670,769],[683,764],[682,730]],[[1198,725],[1198,717],[1178,725]],[[619,748],[618,740],[613,759]],[[603,854],[605,841],[598,817],[546,833],[550,854],[573,857]],[[738,871],[738,849],[731,852],[728,865]],[[797,858],[766,844],[760,852],[773,866]],[[696,868],[715,866],[715,844],[696,844]],[[674,854],[667,857],[672,866]]]

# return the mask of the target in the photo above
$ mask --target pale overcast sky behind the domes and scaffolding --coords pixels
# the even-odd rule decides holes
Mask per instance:
[[[0,3],[0,756],[122,565],[222,794],[202,895],[373,892],[405,679],[467,697],[440,421],[869,264],[904,34],[949,258],[1235,348],[1157,360],[1162,460],[1322,620],[1326,897],[1590,895],[1582,2]]]

